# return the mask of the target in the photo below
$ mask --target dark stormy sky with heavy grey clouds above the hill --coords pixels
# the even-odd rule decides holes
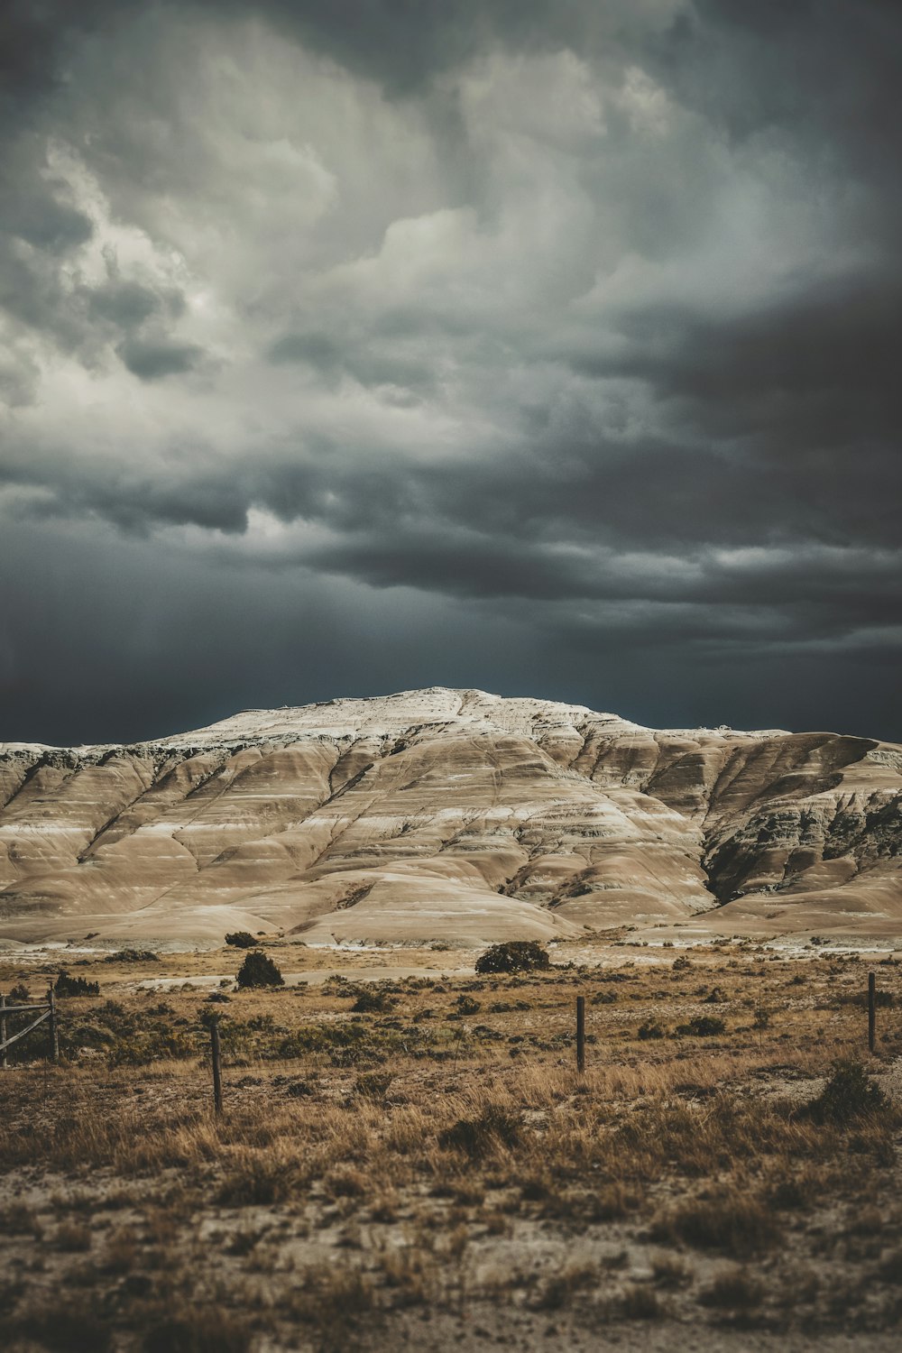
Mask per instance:
[[[0,4],[0,740],[902,740],[902,7]]]

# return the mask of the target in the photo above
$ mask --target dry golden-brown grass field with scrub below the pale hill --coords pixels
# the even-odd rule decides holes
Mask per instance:
[[[897,1346],[893,957],[265,947],[285,986],[237,990],[233,948],[66,958],[99,994],[60,1000],[60,1065],[42,1030],[0,1073],[11,1353]]]

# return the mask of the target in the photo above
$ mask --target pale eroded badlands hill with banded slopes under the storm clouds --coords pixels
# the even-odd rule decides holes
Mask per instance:
[[[902,748],[477,690],[0,744],[0,938],[902,934]]]

